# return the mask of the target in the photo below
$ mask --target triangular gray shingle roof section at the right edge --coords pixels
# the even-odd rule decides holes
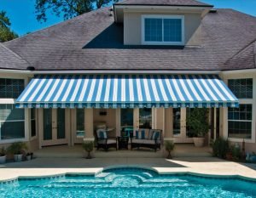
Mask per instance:
[[[237,54],[228,59],[224,65],[228,67],[256,68],[256,40],[251,42],[245,48],[242,48]]]

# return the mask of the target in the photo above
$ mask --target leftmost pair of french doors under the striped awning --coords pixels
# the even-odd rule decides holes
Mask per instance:
[[[67,144],[65,109],[44,109],[42,146]]]

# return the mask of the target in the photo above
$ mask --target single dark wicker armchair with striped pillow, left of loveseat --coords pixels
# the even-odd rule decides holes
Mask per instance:
[[[105,129],[98,129],[96,131],[96,145],[97,150],[102,148],[103,150],[108,151],[109,148],[117,148],[117,138],[108,137],[108,134]]]

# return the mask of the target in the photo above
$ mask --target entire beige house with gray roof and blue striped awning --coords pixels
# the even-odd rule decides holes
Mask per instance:
[[[0,144],[31,150],[93,140],[106,124],[256,150],[256,18],[194,0],[126,0],[0,45]]]

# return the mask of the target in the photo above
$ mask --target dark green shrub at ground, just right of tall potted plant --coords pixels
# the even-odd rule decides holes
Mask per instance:
[[[229,141],[228,139],[215,139],[215,141],[212,142],[212,155],[217,156],[219,158],[225,159],[227,153],[229,152]]]

